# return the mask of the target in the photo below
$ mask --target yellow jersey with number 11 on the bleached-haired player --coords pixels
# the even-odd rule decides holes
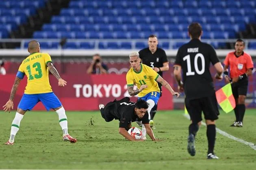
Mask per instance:
[[[157,74],[157,72],[155,72],[151,67],[141,64],[141,70],[139,72],[136,72],[136,70],[130,68],[126,74],[126,81],[128,86],[136,84],[138,89],[141,87],[141,85],[147,85],[148,87],[143,89],[138,94],[139,97],[143,97],[152,91],[160,92],[156,82],[158,76],[159,74]]]

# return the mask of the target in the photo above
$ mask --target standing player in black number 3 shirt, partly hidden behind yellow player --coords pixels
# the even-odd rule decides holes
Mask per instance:
[[[148,37],[148,48],[139,51],[139,57],[142,63],[150,66],[155,70],[161,77],[163,77],[163,71],[169,70],[169,62],[167,60],[166,53],[163,49],[158,48],[158,40],[156,35],[150,35]],[[160,89],[160,97],[162,96],[162,84],[158,83]],[[152,108],[150,112],[150,127],[155,129],[154,126],[154,116],[156,114],[157,104]]]

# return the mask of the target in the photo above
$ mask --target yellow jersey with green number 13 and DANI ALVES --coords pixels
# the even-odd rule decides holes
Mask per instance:
[[[52,59],[47,53],[32,53],[19,67],[26,74],[28,81],[24,94],[41,94],[52,92],[49,82],[47,63]]]

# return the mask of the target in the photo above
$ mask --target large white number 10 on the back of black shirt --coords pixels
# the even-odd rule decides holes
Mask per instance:
[[[199,70],[198,65],[197,65],[197,60],[198,58],[201,58],[201,62],[202,62],[202,69]],[[195,72],[193,72],[191,70],[191,61],[190,61],[190,55],[186,55],[185,57],[183,57],[183,61],[187,60],[187,68],[188,68],[188,72],[186,72],[186,76],[193,76],[195,75],[195,72],[199,75],[204,74],[204,70],[205,70],[205,60],[204,60],[204,55],[202,55],[202,53],[197,53],[195,55],[195,59],[194,59],[194,66],[195,66]]]

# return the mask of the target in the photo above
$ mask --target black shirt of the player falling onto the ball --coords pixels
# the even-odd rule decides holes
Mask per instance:
[[[127,128],[128,124],[134,121],[142,121],[143,124],[148,124],[148,112],[140,119],[135,115],[135,103],[130,101],[116,101],[115,117],[120,121],[119,127]]]

